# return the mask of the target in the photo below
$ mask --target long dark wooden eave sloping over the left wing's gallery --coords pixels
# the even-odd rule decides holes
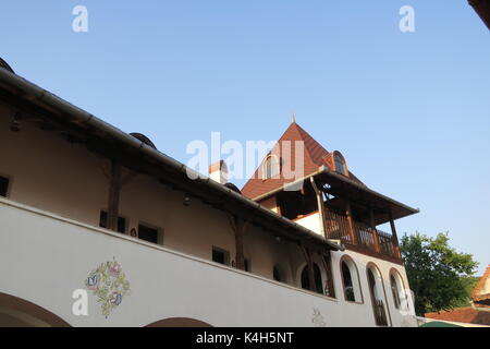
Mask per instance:
[[[200,174],[196,180],[189,179],[187,171],[194,171],[185,165],[2,69],[0,101],[14,108],[21,122],[35,122],[42,130],[56,132],[71,143],[83,143],[90,152],[117,160],[136,172],[152,176],[172,189],[244,218],[283,240],[333,251],[343,250],[343,246],[207,177]]]

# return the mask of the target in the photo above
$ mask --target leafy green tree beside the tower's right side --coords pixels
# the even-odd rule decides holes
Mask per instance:
[[[404,234],[400,249],[417,315],[468,303],[468,280],[478,263],[471,254],[452,249],[448,234],[439,233],[436,239],[419,232]]]

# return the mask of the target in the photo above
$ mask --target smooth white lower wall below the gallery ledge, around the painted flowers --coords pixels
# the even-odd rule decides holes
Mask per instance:
[[[144,326],[191,317],[213,326],[371,326],[368,306],[346,304],[155,244],[0,200],[0,291],[73,326]],[[115,258],[131,294],[106,318],[89,292],[88,316],[71,298],[100,263]],[[335,270],[335,268],[334,268]],[[412,317],[404,318],[409,323]]]

